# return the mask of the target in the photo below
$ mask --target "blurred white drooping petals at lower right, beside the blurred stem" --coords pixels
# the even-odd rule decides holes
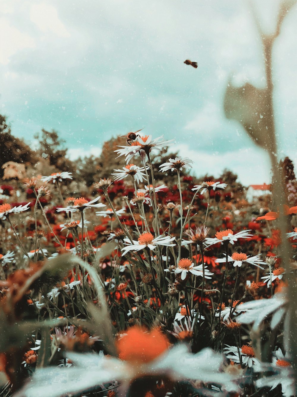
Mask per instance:
[[[236,321],[241,324],[252,324],[253,331],[257,331],[260,324],[272,315],[270,328],[273,330],[286,314],[287,300],[276,293],[270,299],[259,299],[257,301],[246,302],[240,305],[244,313],[240,314]]]

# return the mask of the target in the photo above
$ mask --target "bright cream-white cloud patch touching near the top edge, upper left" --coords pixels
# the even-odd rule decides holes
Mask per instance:
[[[58,37],[70,37],[70,33],[58,17],[56,8],[45,2],[31,6],[30,20],[44,33],[52,32]]]

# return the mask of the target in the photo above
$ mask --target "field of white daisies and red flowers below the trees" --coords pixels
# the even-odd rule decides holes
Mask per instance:
[[[124,166],[95,183],[1,185],[1,395],[295,395],[293,171],[276,208],[189,158],[156,166],[172,141],[118,142]]]

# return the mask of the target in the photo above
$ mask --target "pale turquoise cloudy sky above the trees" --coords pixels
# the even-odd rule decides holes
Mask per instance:
[[[267,33],[278,3],[254,0]],[[280,156],[297,165],[296,19],[297,6],[276,40],[273,77]],[[265,86],[248,1],[0,0],[0,37],[0,112],[30,145],[55,129],[74,160],[144,128],[175,139],[197,176],[228,168],[244,185],[269,183],[267,154],[223,111],[228,81]]]

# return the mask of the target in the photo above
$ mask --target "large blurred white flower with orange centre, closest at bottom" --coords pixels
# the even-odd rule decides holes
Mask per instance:
[[[70,368],[37,369],[30,380],[15,397],[60,397],[79,393],[116,379],[126,390],[134,380],[143,377],[164,377],[173,382],[187,380],[223,384],[236,390],[234,377],[219,372],[222,356],[211,349],[199,353],[188,352],[186,345],[168,349],[169,342],[158,330],[145,331],[140,327],[130,328],[117,342],[118,354],[112,358],[97,354],[67,353],[73,362]]]

